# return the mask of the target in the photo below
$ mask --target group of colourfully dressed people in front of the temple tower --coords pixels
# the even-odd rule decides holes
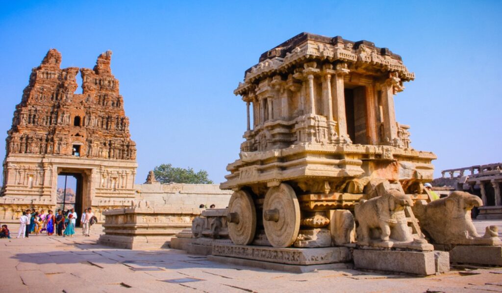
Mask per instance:
[[[53,214],[52,210],[49,210],[48,213],[41,210],[39,213],[36,211],[32,212],[28,209],[23,212],[23,215],[19,219],[20,226],[17,238],[30,237],[30,234],[39,235],[44,231],[48,236],[52,236],[56,233],[58,236],[73,237],[77,218],[78,215],[74,209],[66,212],[58,210],[56,215]],[[97,223],[97,219],[94,213],[92,213],[91,208],[84,211],[80,223],[82,226],[82,235],[90,236],[91,226]],[[2,225],[0,238],[11,238],[11,233],[7,225]]]

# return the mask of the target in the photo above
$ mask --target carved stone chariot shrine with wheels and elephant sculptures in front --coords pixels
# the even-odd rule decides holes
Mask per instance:
[[[302,33],[262,54],[234,91],[247,130],[220,185],[233,190],[226,216],[215,222],[232,243],[203,243],[219,234],[196,230],[180,239],[210,246],[200,250],[213,260],[297,272],[351,261],[418,275],[448,271],[450,261],[502,265],[496,228],[472,230],[470,209],[481,203],[466,193],[431,203],[423,187],[436,156],[411,147],[394,111],[414,78],[391,50],[339,36]]]

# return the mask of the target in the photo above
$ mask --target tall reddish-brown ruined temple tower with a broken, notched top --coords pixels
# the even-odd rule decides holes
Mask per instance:
[[[55,49],[32,70],[8,131],[0,219],[18,221],[27,208],[54,210],[61,174],[77,180],[79,215],[134,198],[136,144],[110,60],[107,51],[93,69],[80,68],[82,94],[74,93],[79,68],[61,69]]]

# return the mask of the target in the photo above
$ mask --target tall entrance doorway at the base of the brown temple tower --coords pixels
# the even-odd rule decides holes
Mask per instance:
[[[80,227],[82,216],[82,174],[60,173],[56,194],[56,211],[75,209],[77,213],[76,226]]]

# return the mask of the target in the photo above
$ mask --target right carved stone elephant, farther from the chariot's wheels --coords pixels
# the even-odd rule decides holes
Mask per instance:
[[[500,244],[500,239],[487,234],[480,237],[471,220],[473,207],[483,205],[481,199],[464,191],[453,191],[448,197],[426,203],[418,201],[413,213],[422,230],[436,244]],[[495,228],[496,229],[496,228]]]

